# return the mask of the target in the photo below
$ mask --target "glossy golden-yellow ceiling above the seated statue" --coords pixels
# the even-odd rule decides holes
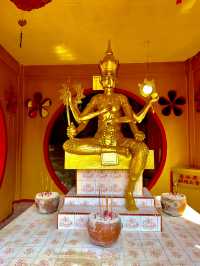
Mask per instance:
[[[121,63],[183,61],[200,50],[200,0],[175,2],[52,0],[22,12],[1,0],[0,43],[25,65],[97,63],[109,39]],[[22,17],[28,23],[20,49]]]

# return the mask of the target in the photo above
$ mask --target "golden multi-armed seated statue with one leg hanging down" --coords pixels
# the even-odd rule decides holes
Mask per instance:
[[[152,103],[158,100],[158,94],[152,94],[143,109],[135,114],[127,97],[113,91],[118,65],[109,43],[106,54],[100,62],[101,84],[104,93],[93,96],[82,113],[78,109],[77,99],[71,96],[69,89],[65,90],[63,99],[67,108],[68,120],[70,120],[70,108],[79,126],[76,128],[73,123],[68,122],[67,136],[69,139],[64,143],[63,148],[66,152],[80,155],[118,153],[131,156],[125,199],[126,208],[135,210],[137,208],[133,191],[136,181],[145,168],[148,156],[148,148],[143,142],[145,135],[138,130],[136,123],[140,123],[145,118]],[[93,138],[75,138],[86,127],[89,120],[96,116],[98,116],[98,129],[95,136]],[[133,139],[123,136],[122,123],[129,123],[134,135]]]

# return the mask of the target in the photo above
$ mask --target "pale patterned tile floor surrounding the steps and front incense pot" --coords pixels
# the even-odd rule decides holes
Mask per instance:
[[[184,217],[163,215],[163,232],[123,231],[110,248],[91,244],[85,230],[56,226],[56,213],[30,207],[0,230],[0,265],[200,265],[200,215],[190,207]]]

